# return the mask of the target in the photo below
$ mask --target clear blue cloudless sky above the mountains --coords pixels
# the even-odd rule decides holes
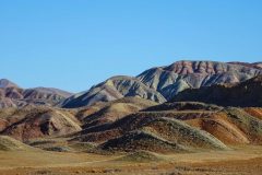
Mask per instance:
[[[261,0],[0,0],[0,78],[87,90],[181,59],[262,61]]]

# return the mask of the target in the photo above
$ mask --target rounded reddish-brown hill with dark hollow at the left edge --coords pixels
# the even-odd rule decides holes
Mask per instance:
[[[81,130],[79,120],[71,113],[45,106],[1,109],[0,124],[1,135],[23,141]]]

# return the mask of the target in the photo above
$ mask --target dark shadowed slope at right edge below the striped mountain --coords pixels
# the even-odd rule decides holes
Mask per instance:
[[[221,84],[188,89],[174,101],[204,102],[221,106],[262,106],[262,75],[236,84]]]

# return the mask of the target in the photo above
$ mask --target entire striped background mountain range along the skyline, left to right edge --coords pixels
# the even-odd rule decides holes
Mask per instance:
[[[235,84],[259,74],[262,74],[262,62],[177,61],[151,68],[136,77],[112,77],[76,94],[50,88],[22,89],[2,79],[0,107],[35,104],[75,108],[128,96],[164,103],[188,89]]]

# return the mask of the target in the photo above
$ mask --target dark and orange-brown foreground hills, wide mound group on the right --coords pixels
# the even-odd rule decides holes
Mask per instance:
[[[187,152],[261,144],[260,108],[224,108],[194,102],[165,103],[114,122],[86,127],[74,141],[107,151]]]

